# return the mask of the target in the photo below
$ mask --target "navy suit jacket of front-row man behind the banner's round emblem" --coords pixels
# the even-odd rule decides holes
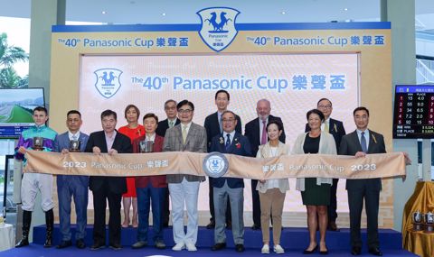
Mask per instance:
[[[210,152],[218,151],[241,156],[251,156],[250,142],[247,137],[243,136],[241,133],[235,132],[231,142],[231,147],[228,151],[226,151],[224,142],[226,142],[226,139],[223,137],[222,133],[214,136],[212,138]],[[214,188],[222,188],[225,181],[228,181],[228,187],[230,188],[244,188],[244,179],[235,178],[213,178],[211,185]]]

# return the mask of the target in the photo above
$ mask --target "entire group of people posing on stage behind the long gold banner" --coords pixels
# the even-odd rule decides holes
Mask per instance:
[[[127,125],[116,129],[118,116],[111,110],[101,113],[102,131],[87,134],[80,131],[80,112],[71,110],[66,117],[68,131],[57,134],[46,126],[48,112],[44,107],[33,110],[35,126],[24,131],[16,147],[15,158],[24,159],[25,151],[33,149],[33,137],[42,137],[42,151],[58,151],[69,154],[70,142],[79,141],[80,151],[94,154],[139,153],[140,144],[151,142],[152,151],[193,151],[237,154],[257,158],[269,158],[287,154],[341,154],[363,157],[369,153],[385,152],[383,137],[368,129],[369,110],[354,109],[357,129],[345,135],[342,122],[332,119],[332,102],[322,98],[316,109],[307,112],[306,132],[297,136],[292,150],[285,144],[282,120],[270,115],[271,104],[267,99],[257,102],[258,117],[245,125],[241,134],[241,118],[228,110],[230,94],[226,90],[215,93],[217,111],[205,118],[204,125],[194,124],[194,105],[188,100],[177,103],[165,102],[166,119],[159,121],[155,114],[143,116],[143,125],[138,123],[140,111],[137,106],[125,109]],[[25,160],[24,160],[25,161]],[[233,234],[235,251],[244,251],[243,223],[243,179],[209,178],[209,203],[211,220],[206,227],[214,229],[212,251],[226,247],[225,229]],[[91,250],[106,247],[106,203],[109,203],[109,247],[121,249],[121,227],[128,226],[129,209],[133,206],[132,225],[137,227],[137,242],[134,249],[145,247],[149,228],[149,212],[152,205],[154,243],[156,248],[165,249],[164,227],[169,220],[170,196],[174,251],[187,249],[196,251],[198,233],[199,185],[205,178],[186,174],[144,176],[136,178],[105,176],[57,176],[61,243],[57,248],[71,246],[71,199],[77,215],[76,246],[85,248],[84,237],[87,225],[88,187],[92,191],[94,205],[93,244]],[[327,254],[325,231],[338,231],[335,220],[336,187],[338,179],[297,179],[297,190],[301,191],[303,204],[307,207],[309,244],[303,253],[319,250]],[[361,254],[360,233],[363,199],[368,220],[368,250],[381,256],[378,239],[379,195],[381,179],[347,179],[346,189],[350,209],[351,253]],[[22,181],[23,237],[16,247],[28,245],[28,234],[32,219],[34,199],[37,191],[42,193],[42,209],[46,216],[46,241],[44,247],[52,246],[53,212],[52,175],[24,173]],[[288,179],[251,180],[253,204],[252,229],[261,229],[262,253],[270,252],[269,226],[273,227],[273,251],[284,253],[280,244],[282,211]],[[123,199],[122,199],[123,198]],[[121,223],[121,202],[124,204],[124,222]],[[184,231],[184,207],[188,222]],[[316,242],[316,230],[320,240]]]

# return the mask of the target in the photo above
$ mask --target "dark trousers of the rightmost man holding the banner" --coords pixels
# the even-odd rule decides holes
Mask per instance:
[[[380,189],[347,188],[348,206],[350,207],[350,235],[351,245],[362,247],[360,224],[362,218],[363,198],[367,217],[368,248],[379,247],[378,239],[378,207],[380,202]]]

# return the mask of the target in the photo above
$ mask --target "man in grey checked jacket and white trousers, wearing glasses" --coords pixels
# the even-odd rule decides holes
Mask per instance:
[[[181,101],[177,106],[181,124],[175,125],[165,133],[163,151],[194,151],[206,152],[206,131],[201,125],[192,122],[194,105],[188,100]],[[197,197],[199,184],[204,181],[202,176],[175,174],[167,175],[170,197],[172,201],[172,223],[174,231],[174,251],[185,247],[188,251],[197,251],[198,216]],[[187,234],[184,233],[184,203],[187,209]]]

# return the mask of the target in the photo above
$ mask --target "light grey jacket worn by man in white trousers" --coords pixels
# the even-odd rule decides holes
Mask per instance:
[[[205,128],[199,124],[192,123],[184,143],[181,124],[178,124],[166,131],[165,142],[163,143],[163,151],[206,152],[206,142]],[[205,177],[203,176],[185,174],[167,175],[166,177],[167,183],[181,183],[184,178],[187,181],[205,180]]]

